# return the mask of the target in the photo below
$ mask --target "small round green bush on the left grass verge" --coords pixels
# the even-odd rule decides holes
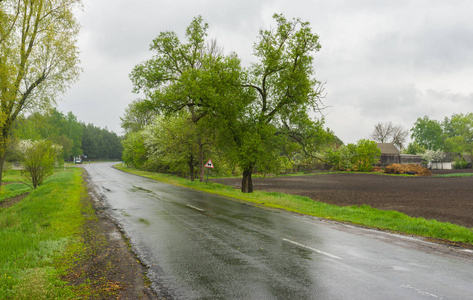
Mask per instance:
[[[49,141],[23,140],[19,143],[19,157],[33,188],[43,184],[54,171],[61,156],[61,147]]]

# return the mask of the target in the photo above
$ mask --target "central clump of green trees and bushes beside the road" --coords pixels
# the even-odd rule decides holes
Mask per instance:
[[[235,53],[225,55],[207,40],[208,25],[193,19],[181,42],[162,32],[150,46],[152,59],[130,77],[144,100],[132,103],[122,126],[124,160],[135,166],[186,170],[204,179],[204,160],[251,176],[276,172],[284,161],[316,159],[336,137],[312,112],[321,106],[323,85],[314,79],[313,54],[320,49],[309,23],[274,15],[276,27],[261,30],[256,62],[243,68]],[[197,171],[197,172],[196,172]]]

